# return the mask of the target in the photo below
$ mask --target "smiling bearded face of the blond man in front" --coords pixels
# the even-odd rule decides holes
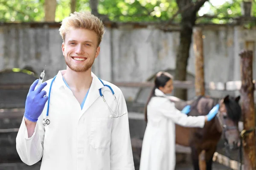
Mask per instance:
[[[62,43],[62,53],[67,66],[76,72],[89,70],[99,55],[97,34],[88,29],[71,29]]]

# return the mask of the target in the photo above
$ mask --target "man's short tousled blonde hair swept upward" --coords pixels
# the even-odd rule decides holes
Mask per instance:
[[[98,46],[102,41],[103,34],[105,33],[102,21],[88,11],[74,12],[73,14],[70,14],[69,17],[62,20],[59,31],[64,42],[67,32],[73,28],[84,28],[94,31],[98,36]]]

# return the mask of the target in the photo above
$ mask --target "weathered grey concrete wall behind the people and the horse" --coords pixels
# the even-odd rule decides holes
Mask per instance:
[[[1,25],[0,71],[31,67],[36,74],[40,74],[46,65],[45,79],[49,79],[58,70],[65,69],[58,26],[44,23]],[[100,78],[115,82],[141,82],[157,71],[175,69],[179,32],[164,32],[154,29],[154,25],[135,27],[131,23],[106,28],[99,57],[93,66],[93,72]],[[177,30],[177,26],[173,26],[173,29]],[[245,30],[241,26],[204,26],[203,33],[206,82],[240,80],[239,52],[245,48],[246,41],[256,39],[255,28]],[[255,52],[255,44],[251,46]],[[191,46],[188,73],[195,73],[194,62]],[[254,65],[255,62],[254,59]],[[122,88],[122,91],[126,99],[133,100],[138,89]],[[218,97],[225,95],[216,91],[207,93]],[[190,91],[189,99],[194,95],[194,91]]]

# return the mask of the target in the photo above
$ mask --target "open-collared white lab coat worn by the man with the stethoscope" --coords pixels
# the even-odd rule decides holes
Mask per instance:
[[[16,138],[20,159],[32,165],[42,158],[41,170],[134,170],[128,114],[118,118],[110,116],[113,114],[100,97],[99,89],[102,88],[108,105],[117,112],[116,103],[109,88],[104,87],[93,73],[90,91],[81,110],[62,79],[63,72],[58,72],[52,84],[50,124],[42,125],[48,102],[31,138],[28,138],[24,119],[21,122]],[[52,79],[48,80],[44,88],[47,95],[51,82]],[[120,114],[127,113],[122,91],[103,82],[115,92]]]

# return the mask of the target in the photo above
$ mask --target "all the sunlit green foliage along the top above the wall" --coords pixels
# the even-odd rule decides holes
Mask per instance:
[[[192,0],[193,2],[196,0]],[[212,1],[212,0],[210,0]],[[221,6],[211,6],[207,14],[215,18],[199,18],[197,23],[231,23],[227,17],[241,16],[242,0],[226,0]],[[89,0],[77,0],[76,11],[90,11]],[[112,21],[142,22],[169,20],[178,11],[176,0],[99,0],[99,14]],[[256,5],[253,3],[253,16]],[[57,0],[55,21],[70,14],[70,0]],[[0,22],[43,22],[44,0],[0,0]],[[174,22],[180,21],[180,15]]]

